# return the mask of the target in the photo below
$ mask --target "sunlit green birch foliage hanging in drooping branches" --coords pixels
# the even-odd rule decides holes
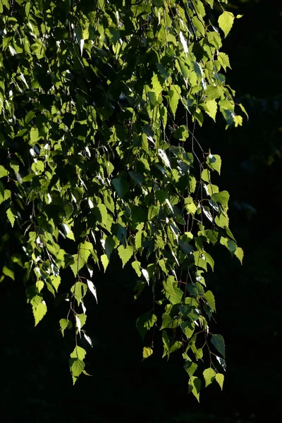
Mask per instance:
[[[85,296],[97,301],[95,269],[118,255],[137,275],[135,298],[152,291],[137,320],[143,358],[159,328],[163,357],[182,350],[198,400],[204,347],[206,386],[222,388],[224,341],[209,333],[204,274],[212,245],[240,261],[243,250],[228,192],[212,183],[221,158],[203,151],[195,126],[218,112],[238,126],[245,113],[222,73],[221,35],[235,18],[225,4],[0,0],[1,280],[23,275],[35,325],[52,296],[68,301],[59,324],[75,330],[73,383],[87,374],[80,338],[92,345]],[[70,286],[58,297],[61,277]]]

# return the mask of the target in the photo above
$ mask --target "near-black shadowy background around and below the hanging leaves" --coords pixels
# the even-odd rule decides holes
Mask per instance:
[[[62,307],[34,328],[21,281],[0,286],[0,405],[3,422],[259,422],[278,417],[281,350],[281,42],[282,8],[272,1],[232,1],[235,20],[223,51],[231,59],[228,82],[248,111],[243,128],[206,123],[197,138],[220,154],[221,189],[231,195],[231,228],[243,247],[243,266],[227,250],[214,250],[208,285],[216,295],[216,331],[226,341],[223,392],[188,396],[181,357],[157,352],[141,361],[135,320],[146,295],[133,301],[133,275],[96,275],[99,305],[88,305],[87,372],[73,387],[71,334],[61,337]],[[236,9],[237,8],[237,9]],[[16,312],[15,312],[16,310]]]

